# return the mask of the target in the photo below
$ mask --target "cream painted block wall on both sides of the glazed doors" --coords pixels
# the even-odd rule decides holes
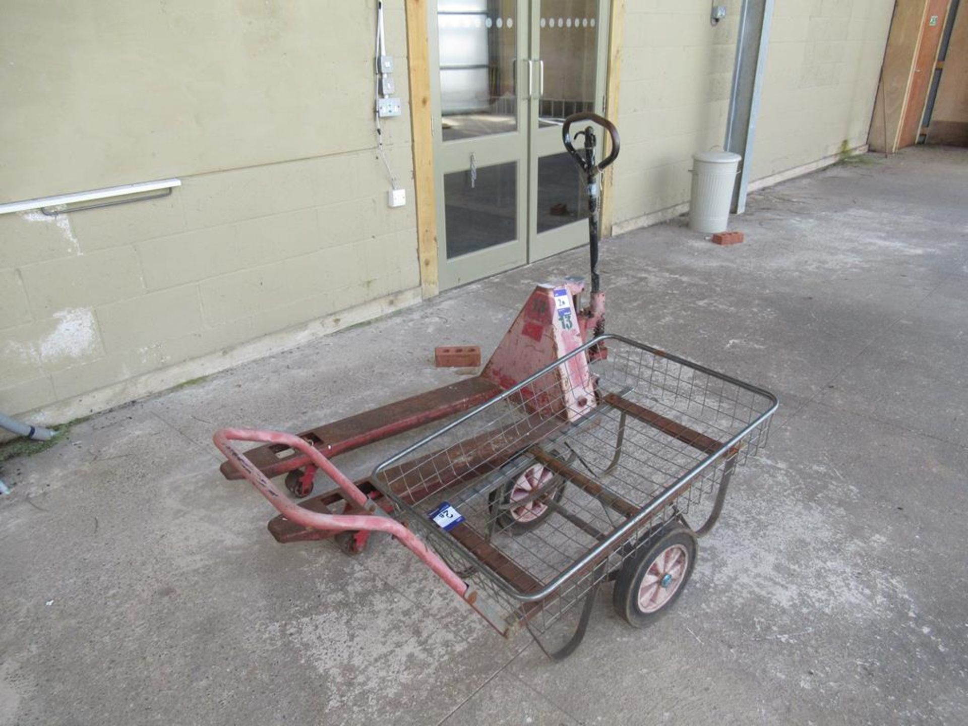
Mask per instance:
[[[615,221],[722,143],[739,0],[627,0]],[[375,0],[8,3],[0,201],[178,176],[171,197],[0,216],[0,410],[57,423],[419,299],[404,116],[375,153]],[[891,0],[777,0],[754,178],[866,136]]]

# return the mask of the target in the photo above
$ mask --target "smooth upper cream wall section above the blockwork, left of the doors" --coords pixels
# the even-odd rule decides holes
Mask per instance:
[[[386,5],[405,56],[403,0]],[[374,0],[31,0],[2,15],[0,201],[373,145]],[[388,135],[406,142],[407,125]]]

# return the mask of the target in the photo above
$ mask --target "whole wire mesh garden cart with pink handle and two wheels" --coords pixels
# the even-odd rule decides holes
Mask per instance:
[[[393,534],[505,637],[527,627],[540,644],[575,609],[571,639],[545,650],[563,657],[603,582],[634,626],[676,601],[776,408],[762,388],[607,335],[378,465],[368,493],[297,437],[226,430],[216,444],[285,516]],[[303,450],[359,514],[299,510],[230,439]]]

